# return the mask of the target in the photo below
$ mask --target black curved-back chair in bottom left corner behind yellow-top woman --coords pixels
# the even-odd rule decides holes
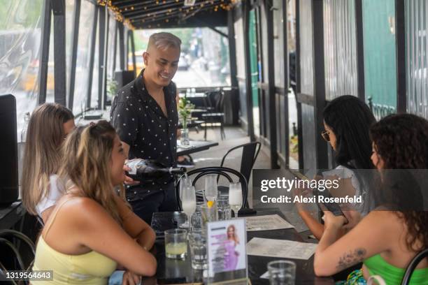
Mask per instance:
[[[11,242],[7,238],[15,239],[15,243]],[[21,242],[24,242],[24,244],[27,244],[27,247],[31,250],[32,258],[28,266],[24,264],[24,259],[20,254]],[[8,230],[8,229],[0,230],[0,244],[1,246],[8,247],[13,252],[15,268],[9,269],[9,270],[25,270],[25,271],[31,270],[31,267],[33,266],[33,263],[34,263],[34,256],[36,255],[36,250],[34,247],[34,243],[27,237],[27,235],[24,235],[23,233],[20,233],[15,230]],[[8,272],[8,269],[6,269],[6,267],[0,261],[0,275],[2,275],[3,277],[6,276],[6,272]],[[16,284],[16,282],[11,282],[11,283]],[[29,284],[29,282],[24,282],[24,283]]]

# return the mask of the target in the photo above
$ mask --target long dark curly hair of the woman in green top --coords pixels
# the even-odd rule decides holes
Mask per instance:
[[[376,152],[383,160],[385,170],[428,169],[428,121],[426,119],[411,114],[389,115],[374,124],[370,133]],[[403,173],[409,172],[403,171]],[[403,177],[400,176],[396,181],[402,179]],[[411,190],[409,188],[413,187],[406,185],[404,188],[399,185],[389,189],[392,192],[391,196],[396,197],[394,203],[398,205],[395,206],[404,209],[397,214],[404,219],[408,228],[407,246],[409,249],[418,251],[428,247],[428,212],[408,210],[408,205],[404,205],[408,201],[404,196],[412,196],[408,193]],[[422,244],[420,248],[415,248],[417,241]]]

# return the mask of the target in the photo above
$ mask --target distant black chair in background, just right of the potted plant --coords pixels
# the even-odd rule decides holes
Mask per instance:
[[[223,140],[226,138],[224,133],[223,121],[224,121],[224,112],[223,112],[223,98],[224,94],[220,89],[217,89],[213,92],[206,93],[208,106],[206,107],[207,112],[202,114],[202,119],[205,121],[205,133],[204,138],[206,140],[206,129],[208,124],[213,126],[214,123],[220,123],[220,137]]]

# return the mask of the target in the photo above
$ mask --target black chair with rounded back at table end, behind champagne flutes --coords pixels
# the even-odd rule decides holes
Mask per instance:
[[[193,186],[196,184],[196,182],[199,180],[199,178],[204,177],[205,175],[210,174],[217,174],[225,177],[229,182],[234,182],[232,180],[231,175],[234,175],[238,177],[238,181],[241,182],[242,186],[242,205],[243,208],[247,208],[248,206],[248,182],[245,179],[245,176],[238,172],[237,170],[227,168],[227,167],[219,167],[219,166],[213,166],[213,167],[204,167],[204,168],[197,168],[194,170],[191,170],[187,173],[187,176],[197,175],[194,177],[194,180],[192,182]],[[178,182],[176,185],[176,198],[177,198],[177,204],[180,211],[183,211],[183,208],[181,207],[181,200],[180,200],[180,180],[185,175],[182,175],[180,178],[178,178]],[[228,188],[229,189],[229,188]],[[197,200],[204,200],[204,191],[197,191]]]

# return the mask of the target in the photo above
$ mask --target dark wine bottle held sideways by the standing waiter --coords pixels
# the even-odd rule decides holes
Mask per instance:
[[[186,171],[183,167],[166,167],[162,163],[152,159],[131,159],[127,161],[126,165],[131,168],[127,172],[127,176],[141,182],[155,180],[171,174],[183,175]]]

